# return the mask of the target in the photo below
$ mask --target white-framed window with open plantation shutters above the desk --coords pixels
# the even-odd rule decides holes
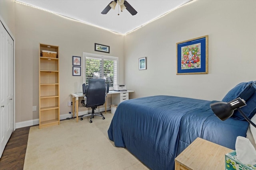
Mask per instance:
[[[90,78],[104,78],[110,90],[114,90],[118,77],[118,57],[83,53],[83,82],[88,84]]]

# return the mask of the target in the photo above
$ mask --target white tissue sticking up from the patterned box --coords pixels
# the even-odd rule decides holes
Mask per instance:
[[[241,136],[236,138],[236,158],[243,164],[256,164],[256,150],[249,139]]]

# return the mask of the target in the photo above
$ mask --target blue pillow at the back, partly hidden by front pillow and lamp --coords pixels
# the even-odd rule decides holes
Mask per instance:
[[[230,102],[236,98],[241,98],[247,101],[255,91],[256,89],[253,81],[242,82],[232,88],[222,99],[222,102]]]

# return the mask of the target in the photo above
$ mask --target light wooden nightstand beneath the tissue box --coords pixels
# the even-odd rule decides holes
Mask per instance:
[[[175,170],[224,170],[225,154],[232,149],[196,138],[175,158]]]

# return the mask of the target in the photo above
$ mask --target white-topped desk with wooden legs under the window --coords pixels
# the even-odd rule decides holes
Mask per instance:
[[[112,96],[112,104],[120,104],[124,100],[129,100],[129,93],[134,92],[133,90],[127,90],[127,91],[114,91],[110,90],[108,94],[116,94]],[[84,94],[81,93],[71,93],[72,96],[72,102],[73,102],[73,117],[75,117],[75,102],[76,102],[76,122],[78,122],[78,104],[79,104],[79,97],[83,97]],[[75,101],[76,99],[76,101]],[[114,102],[114,103],[113,103]],[[106,113],[106,102],[105,102],[105,113]]]

